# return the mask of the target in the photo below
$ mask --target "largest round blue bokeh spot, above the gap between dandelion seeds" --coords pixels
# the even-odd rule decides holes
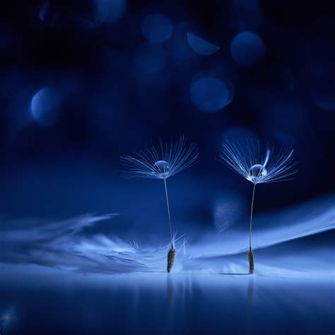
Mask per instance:
[[[233,87],[216,78],[200,78],[191,84],[191,100],[202,112],[218,112],[233,99]]]

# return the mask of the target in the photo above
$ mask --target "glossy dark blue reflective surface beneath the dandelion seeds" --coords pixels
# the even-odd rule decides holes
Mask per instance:
[[[1,334],[332,334],[334,279],[4,266]]]

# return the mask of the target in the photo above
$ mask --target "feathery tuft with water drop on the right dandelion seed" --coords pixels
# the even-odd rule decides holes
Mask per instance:
[[[281,182],[298,172],[293,158],[293,149],[282,148],[274,153],[274,148],[266,149],[261,155],[259,144],[247,142],[245,147],[226,141],[220,158],[225,165],[253,184]]]

